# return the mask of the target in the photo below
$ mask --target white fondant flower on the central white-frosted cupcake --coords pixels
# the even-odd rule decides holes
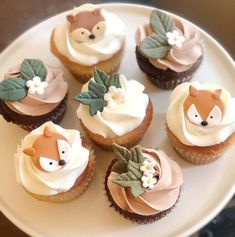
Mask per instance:
[[[110,86],[109,91],[104,95],[104,100],[108,102],[108,107],[113,108],[124,102],[125,91],[122,88]]]

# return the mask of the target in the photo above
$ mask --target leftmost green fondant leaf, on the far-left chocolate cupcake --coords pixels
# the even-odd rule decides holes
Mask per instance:
[[[26,82],[22,78],[9,78],[0,83],[0,99],[6,101],[21,100],[27,96]]]

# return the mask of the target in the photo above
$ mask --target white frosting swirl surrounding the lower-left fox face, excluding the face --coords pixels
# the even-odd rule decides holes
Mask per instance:
[[[38,136],[43,134],[48,126],[56,132],[63,134],[72,146],[71,160],[55,172],[43,172],[35,167],[32,159],[23,153],[25,148],[31,147]],[[89,151],[81,144],[80,132],[77,130],[63,129],[52,122],[44,123],[39,128],[27,135],[15,154],[16,177],[26,190],[38,195],[55,195],[68,191],[76,179],[87,167]]]

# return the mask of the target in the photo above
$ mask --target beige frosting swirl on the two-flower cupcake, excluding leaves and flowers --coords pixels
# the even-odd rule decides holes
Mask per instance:
[[[142,150],[143,155],[150,155],[160,167],[161,176],[153,189],[146,190],[134,197],[130,189],[112,182],[119,174],[111,172],[108,177],[108,189],[116,204],[129,212],[140,215],[154,215],[174,206],[183,184],[183,175],[179,165],[169,159],[163,151]]]

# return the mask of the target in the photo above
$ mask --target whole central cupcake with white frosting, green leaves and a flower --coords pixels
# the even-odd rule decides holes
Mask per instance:
[[[105,150],[112,144],[137,144],[152,121],[153,107],[144,86],[124,75],[105,74],[99,69],[75,97],[77,116],[87,135]]]

